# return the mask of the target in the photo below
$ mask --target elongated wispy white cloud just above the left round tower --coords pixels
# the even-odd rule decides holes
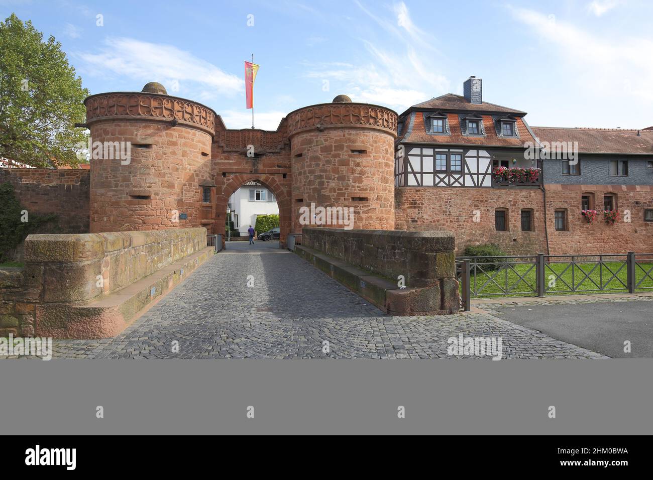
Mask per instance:
[[[215,100],[244,90],[237,75],[222,71],[212,63],[172,45],[142,42],[129,38],[108,38],[100,53],[76,54],[89,74],[124,76],[139,83],[161,82],[170,95]],[[174,82],[180,91],[171,91]]]

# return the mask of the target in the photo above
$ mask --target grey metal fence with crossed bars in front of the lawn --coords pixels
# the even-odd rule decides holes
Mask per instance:
[[[653,253],[456,257],[462,308],[473,296],[653,290]]]

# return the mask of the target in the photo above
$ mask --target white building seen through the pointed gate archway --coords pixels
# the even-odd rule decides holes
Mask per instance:
[[[234,191],[229,198],[229,208],[234,229],[240,231],[241,235],[247,234],[249,225],[256,226],[257,216],[279,214],[277,199],[271,191],[257,182],[247,182]]]

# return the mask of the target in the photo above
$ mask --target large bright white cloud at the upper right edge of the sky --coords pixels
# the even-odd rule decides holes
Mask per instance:
[[[653,63],[645,52],[653,50],[648,38],[600,37],[594,32],[565,22],[551,21],[547,16],[526,8],[511,9],[518,21],[531,27],[545,44],[556,48],[556,54],[567,61],[569,78],[583,90],[603,97],[633,95],[653,101]],[[543,71],[546,66],[542,65]]]

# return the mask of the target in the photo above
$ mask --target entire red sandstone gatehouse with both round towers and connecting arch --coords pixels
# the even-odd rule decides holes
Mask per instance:
[[[247,182],[274,194],[282,246],[307,226],[300,210],[311,204],[353,209],[347,223],[319,226],[394,229],[397,114],[388,108],[338,95],[263,131],[227,129],[212,109],[172,97],[157,82],[84,103],[100,150],[91,150],[91,232],[206,227],[224,234],[229,197]]]

